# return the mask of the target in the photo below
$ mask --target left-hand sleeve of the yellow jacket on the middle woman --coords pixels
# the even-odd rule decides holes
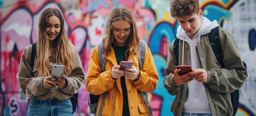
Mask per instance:
[[[106,67],[108,66],[106,62]],[[107,69],[107,68],[106,68]],[[114,87],[115,80],[111,76],[111,68],[101,71],[99,63],[98,46],[91,53],[90,63],[87,71],[86,89],[90,94],[100,95]]]

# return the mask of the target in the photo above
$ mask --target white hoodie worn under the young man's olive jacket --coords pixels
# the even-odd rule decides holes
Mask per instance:
[[[192,40],[180,26],[177,28],[177,38],[187,42],[190,46],[192,69],[200,68],[195,49],[197,42],[200,42],[200,36],[206,35],[210,33],[212,29],[220,26],[218,25],[218,22],[216,20],[211,22],[206,17],[200,18],[200,21],[202,23],[202,26],[200,27],[198,33],[195,34]],[[182,52],[182,65],[184,60],[183,56],[184,53]],[[206,91],[204,85],[201,82],[198,82],[197,80],[192,80],[188,83],[188,91],[186,94],[186,100],[182,112],[196,114],[211,114]]]

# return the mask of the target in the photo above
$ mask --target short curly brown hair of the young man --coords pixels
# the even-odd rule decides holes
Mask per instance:
[[[191,16],[200,10],[199,0],[173,0],[170,4],[173,18]]]

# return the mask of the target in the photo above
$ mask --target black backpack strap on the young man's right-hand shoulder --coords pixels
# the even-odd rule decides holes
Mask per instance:
[[[220,38],[219,38],[219,28],[216,27],[211,30],[211,32],[208,34],[209,42],[211,44],[211,48],[213,49],[213,52],[216,56],[216,59],[220,63],[221,67],[224,67],[224,63],[222,60],[222,47],[220,44]]]

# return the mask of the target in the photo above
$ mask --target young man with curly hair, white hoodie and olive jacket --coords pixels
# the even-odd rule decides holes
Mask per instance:
[[[175,57],[174,40],[168,49],[164,87],[175,95],[171,106],[174,116],[231,116],[230,93],[243,86],[247,70],[233,36],[216,20],[203,17],[199,0],[173,0],[171,16],[179,22],[179,55]],[[208,33],[219,27],[224,67],[218,62]],[[175,49],[176,50],[176,49]],[[185,60],[184,60],[185,59]],[[192,71],[177,74],[177,65],[191,65]]]

